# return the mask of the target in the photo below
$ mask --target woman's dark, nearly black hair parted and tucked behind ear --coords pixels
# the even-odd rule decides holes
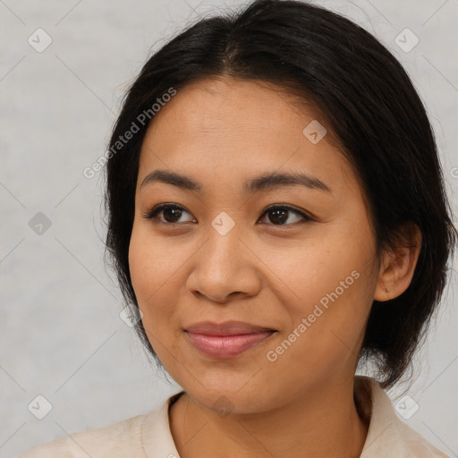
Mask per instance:
[[[145,116],[170,89],[205,78],[273,83],[313,104],[356,172],[377,239],[377,256],[418,225],[420,257],[410,286],[374,301],[360,361],[372,360],[384,388],[394,385],[425,335],[441,299],[457,231],[446,199],[437,146],[425,107],[403,66],[368,31],[322,7],[259,0],[183,30],[143,66],[123,99],[106,165],[106,249],[123,298],[138,317],[128,261]],[[149,111],[148,111],[149,110]],[[142,120],[143,123],[140,123]],[[135,123],[131,140],[120,136]],[[157,358],[141,321],[142,344]]]

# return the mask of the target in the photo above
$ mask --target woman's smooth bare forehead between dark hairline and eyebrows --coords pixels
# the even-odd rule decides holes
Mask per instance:
[[[264,81],[191,83],[178,89],[149,124],[139,185],[155,168],[170,168],[199,182],[295,171],[322,177],[333,189],[354,186],[351,166],[327,134],[318,142],[304,134],[310,125],[324,128],[325,121],[317,118],[306,101]]]

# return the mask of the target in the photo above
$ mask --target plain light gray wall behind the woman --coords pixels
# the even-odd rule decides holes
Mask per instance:
[[[371,31],[410,73],[456,208],[457,0],[316,3]],[[101,174],[82,171],[105,152],[148,52],[199,15],[236,5],[0,0],[0,457],[145,413],[180,389],[119,317],[121,294],[103,262]],[[53,40],[41,53],[28,42],[38,28]],[[410,52],[394,41],[406,28],[420,39]],[[51,222],[41,234],[29,223],[38,212]],[[407,392],[420,409],[405,420],[450,456],[458,456],[456,289],[454,272]],[[396,403],[404,390],[388,394]],[[38,394],[53,405],[43,420],[28,410]]]

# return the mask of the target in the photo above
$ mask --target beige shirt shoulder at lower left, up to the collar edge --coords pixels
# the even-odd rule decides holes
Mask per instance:
[[[134,456],[137,448],[141,450],[141,426],[147,415],[138,415],[118,421],[105,428],[89,429],[59,437],[30,449],[25,454],[21,454],[19,458]]]

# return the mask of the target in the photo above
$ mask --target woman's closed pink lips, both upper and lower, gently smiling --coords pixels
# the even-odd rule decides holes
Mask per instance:
[[[200,352],[220,359],[234,358],[276,334],[275,329],[242,321],[227,321],[222,324],[200,322],[184,331],[191,344]]]

